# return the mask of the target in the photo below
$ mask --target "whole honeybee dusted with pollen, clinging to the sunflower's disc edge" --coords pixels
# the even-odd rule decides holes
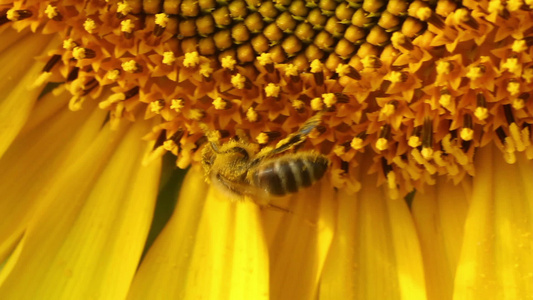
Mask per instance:
[[[329,160],[314,151],[287,150],[303,143],[320,119],[320,114],[311,117],[276,147],[261,151],[242,137],[220,145],[213,132],[207,132],[209,143],[202,150],[207,180],[232,195],[248,196],[256,202],[313,185],[326,173]]]

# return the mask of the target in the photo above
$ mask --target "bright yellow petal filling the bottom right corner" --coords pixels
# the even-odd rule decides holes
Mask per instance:
[[[533,163],[507,164],[495,147],[476,157],[476,176],[454,299],[533,295]]]

